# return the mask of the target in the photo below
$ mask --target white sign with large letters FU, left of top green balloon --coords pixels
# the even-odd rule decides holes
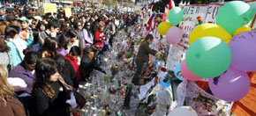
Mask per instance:
[[[217,5],[217,4],[209,5],[208,11],[207,11],[207,17],[204,22],[216,24],[216,16],[220,8],[221,8],[221,5]]]

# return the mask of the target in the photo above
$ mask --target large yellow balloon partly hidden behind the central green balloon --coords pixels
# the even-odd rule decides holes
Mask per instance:
[[[213,36],[224,40],[227,44],[232,39],[230,33],[228,33],[222,26],[215,24],[203,24],[196,26],[189,36],[189,44],[199,40],[202,37]]]

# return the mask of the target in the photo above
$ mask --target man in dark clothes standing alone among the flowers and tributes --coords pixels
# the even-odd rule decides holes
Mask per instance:
[[[147,63],[149,61],[149,54],[153,54],[153,55],[156,54],[156,51],[154,51],[149,47],[149,45],[152,44],[152,42],[153,42],[152,34],[147,34],[145,40],[143,40],[140,43],[139,52],[135,59],[137,70],[135,72],[135,75],[132,78],[132,83],[134,83],[134,85],[139,85],[139,75],[141,74],[144,63]]]

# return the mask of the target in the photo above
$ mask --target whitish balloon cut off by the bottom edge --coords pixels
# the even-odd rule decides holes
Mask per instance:
[[[169,112],[168,116],[198,116],[191,106],[179,106]]]

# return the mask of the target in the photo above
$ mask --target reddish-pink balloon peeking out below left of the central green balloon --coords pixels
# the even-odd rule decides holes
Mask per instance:
[[[181,74],[184,76],[185,79],[190,81],[200,81],[202,80],[201,77],[196,76],[192,73],[190,69],[188,69],[185,60],[181,64]]]

